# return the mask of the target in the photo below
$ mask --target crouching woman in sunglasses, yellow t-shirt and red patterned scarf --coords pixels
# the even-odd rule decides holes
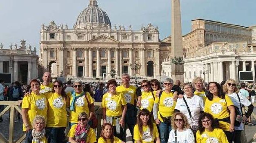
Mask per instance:
[[[85,112],[78,115],[78,124],[72,125],[67,136],[69,143],[96,143],[94,130],[88,124],[88,116]]]

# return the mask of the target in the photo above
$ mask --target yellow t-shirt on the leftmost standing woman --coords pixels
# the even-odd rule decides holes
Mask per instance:
[[[22,100],[21,108],[28,109],[28,122],[30,128],[32,128],[32,121],[36,115],[42,115],[47,121],[48,102],[44,94],[36,95],[33,92],[29,96],[26,96]],[[23,131],[26,131],[23,124]]]

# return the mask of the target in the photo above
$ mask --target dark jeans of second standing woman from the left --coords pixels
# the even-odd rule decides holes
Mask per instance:
[[[60,128],[47,128],[52,136],[53,136],[53,141],[55,141],[56,143],[66,143],[65,141],[65,129],[66,127],[60,127]]]

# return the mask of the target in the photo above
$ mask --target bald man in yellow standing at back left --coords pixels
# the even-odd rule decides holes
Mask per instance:
[[[49,91],[52,92],[53,83],[51,83],[51,73],[45,72],[42,79],[43,79],[43,82],[41,83],[41,86],[40,86],[40,93],[45,93]]]

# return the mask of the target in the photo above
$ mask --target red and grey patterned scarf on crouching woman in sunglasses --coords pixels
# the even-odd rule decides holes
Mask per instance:
[[[78,143],[86,143],[87,132],[90,130],[90,126],[87,123],[85,128],[81,128],[79,124],[76,126],[75,139]]]

